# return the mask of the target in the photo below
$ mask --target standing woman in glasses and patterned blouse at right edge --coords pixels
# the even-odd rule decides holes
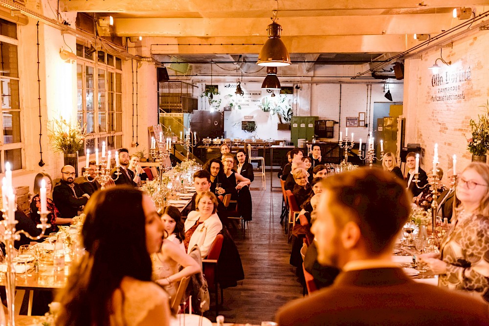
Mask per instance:
[[[456,196],[460,204],[441,252],[421,258],[440,275],[439,286],[489,302],[489,165],[469,164],[458,179]]]

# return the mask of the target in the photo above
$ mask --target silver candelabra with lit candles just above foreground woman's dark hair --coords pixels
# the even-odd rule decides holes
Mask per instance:
[[[100,189],[104,190],[105,185],[110,181],[110,180],[117,180],[119,178],[119,175],[122,173],[120,172],[120,163],[119,163],[119,152],[115,152],[115,175],[116,177],[113,178],[111,174],[111,151],[107,151],[107,158],[106,158],[106,152],[105,152],[105,142],[102,143],[102,159],[99,161],[99,155],[98,155],[98,149],[95,149],[95,177],[90,180],[89,176],[91,177],[91,174],[89,173],[89,165],[90,165],[90,150],[87,150],[86,156],[87,156],[87,163],[85,165],[85,172],[83,173],[83,176],[89,181],[89,182],[95,182],[95,180],[100,183]]]

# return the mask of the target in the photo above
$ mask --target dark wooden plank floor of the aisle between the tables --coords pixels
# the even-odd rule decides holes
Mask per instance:
[[[246,226],[246,238],[240,229],[230,230],[243,262],[244,280],[224,290],[219,313],[226,322],[260,325],[274,321],[283,304],[302,298],[302,285],[289,264],[291,245],[280,224],[282,193],[270,192],[267,183],[267,190],[252,187],[251,196],[253,220]],[[215,302],[212,295],[211,302]],[[205,315],[214,321],[213,308]]]

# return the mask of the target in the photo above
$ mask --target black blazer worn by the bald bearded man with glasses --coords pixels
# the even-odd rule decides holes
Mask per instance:
[[[70,218],[78,215],[78,210],[81,206],[85,205],[88,198],[83,196],[85,194],[80,186],[73,183],[75,187],[75,194],[71,187],[68,186],[66,181],[60,180],[53,189],[53,201],[60,211],[61,217]]]

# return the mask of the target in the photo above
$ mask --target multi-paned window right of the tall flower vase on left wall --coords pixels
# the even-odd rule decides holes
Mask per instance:
[[[122,147],[122,60],[104,51],[90,53],[89,48],[76,44],[77,118],[86,125],[85,148],[108,150]]]

